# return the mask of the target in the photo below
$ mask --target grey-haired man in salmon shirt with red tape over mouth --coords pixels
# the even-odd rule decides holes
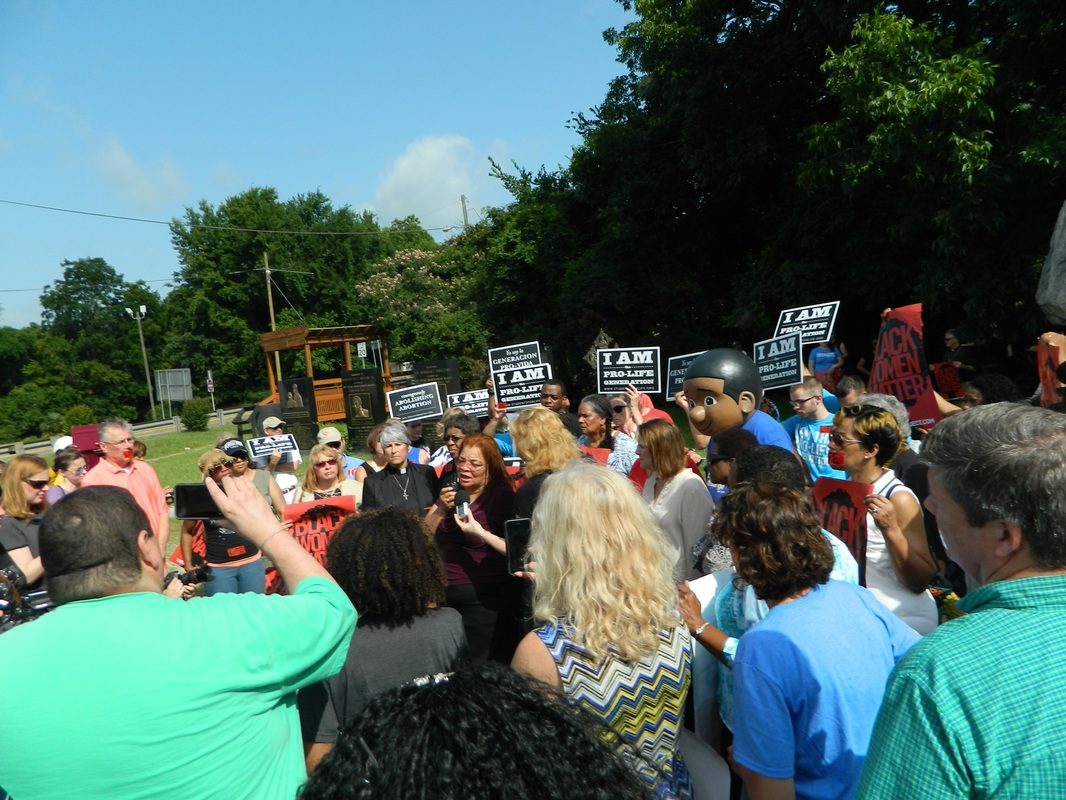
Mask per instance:
[[[118,417],[108,417],[98,428],[99,447],[103,458],[86,473],[82,486],[118,486],[136,500],[151,525],[151,533],[166,559],[166,541],[171,521],[166,495],[156,470],[147,462],[133,459],[133,431],[130,423]]]

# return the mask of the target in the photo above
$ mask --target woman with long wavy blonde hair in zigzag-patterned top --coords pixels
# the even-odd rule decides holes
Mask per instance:
[[[512,667],[615,731],[646,762],[634,768],[649,788],[691,797],[677,749],[692,679],[677,551],[625,478],[580,461],[545,481],[532,527],[533,612],[544,625]]]

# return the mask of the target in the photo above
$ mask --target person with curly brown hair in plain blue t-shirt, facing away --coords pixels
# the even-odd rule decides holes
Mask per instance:
[[[733,662],[733,761],[748,796],[851,797],[885,683],[918,635],[870,591],[828,579],[833,548],[802,492],[741,483],[713,532],[770,607]]]

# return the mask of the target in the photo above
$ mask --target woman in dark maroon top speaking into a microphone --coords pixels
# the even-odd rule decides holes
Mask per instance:
[[[521,627],[520,580],[507,572],[503,525],[514,516],[515,492],[491,436],[463,439],[455,459],[458,489],[470,497],[465,517],[454,495],[440,497],[426,523],[436,531],[448,578],[448,605],[463,614],[470,658],[510,663]]]

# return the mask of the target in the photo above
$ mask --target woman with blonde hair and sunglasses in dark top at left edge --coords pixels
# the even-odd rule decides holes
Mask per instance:
[[[36,455],[16,455],[3,474],[3,508],[0,523],[0,566],[17,566],[27,589],[37,589],[45,569],[37,548],[37,528],[48,509],[48,464]],[[6,551],[6,558],[3,558]]]

